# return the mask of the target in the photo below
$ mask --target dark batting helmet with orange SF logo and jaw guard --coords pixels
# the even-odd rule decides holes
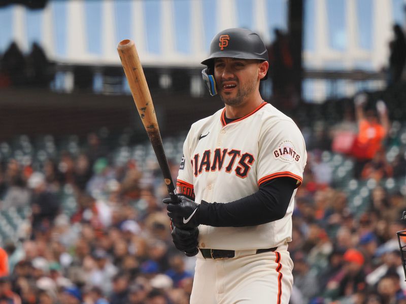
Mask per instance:
[[[201,64],[208,68],[201,71],[210,95],[217,94],[213,76],[214,59],[220,57],[268,60],[268,51],[257,33],[246,28],[228,28],[214,36],[210,45],[210,56]],[[265,80],[267,74],[261,80]]]

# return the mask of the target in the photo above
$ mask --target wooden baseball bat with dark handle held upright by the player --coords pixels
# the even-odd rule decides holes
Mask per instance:
[[[168,189],[172,202],[178,202],[176,188],[171,177],[171,171],[163,150],[161,134],[159,133],[158,121],[156,120],[154,104],[152,103],[151,93],[145,79],[143,67],[138,57],[136,45],[131,40],[123,40],[117,45],[117,51],[120,55],[121,64],[124,68],[125,77],[131,90],[132,98],[141,117],[141,121],[147,131],[149,140],[155,151],[155,156],[161,168],[163,178]],[[194,256],[198,252],[196,248],[193,252],[186,252],[188,256]]]

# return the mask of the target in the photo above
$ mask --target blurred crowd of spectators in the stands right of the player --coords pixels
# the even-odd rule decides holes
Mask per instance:
[[[292,304],[406,303],[396,234],[406,226],[405,145],[395,135],[402,127],[391,124],[383,100],[371,100],[366,93],[355,96],[353,108],[354,115],[321,132],[329,135],[332,151],[353,163],[340,182],[321,161],[322,151],[309,151],[289,245],[294,261]],[[397,153],[391,155],[394,147]],[[387,181],[396,186],[389,189]],[[351,197],[353,182],[365,185],[358,203]]]

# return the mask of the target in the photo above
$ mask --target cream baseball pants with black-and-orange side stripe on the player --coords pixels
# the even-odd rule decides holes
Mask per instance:
[[[190,304],[288,304],[293,262],[287,245],[275,252],[196,259]]]

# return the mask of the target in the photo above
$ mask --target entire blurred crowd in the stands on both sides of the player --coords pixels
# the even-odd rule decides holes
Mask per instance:
[[[289,245],[292,304],[406,303],[396,236],[405,228],[405,193],[382,185],[388,178],[404,180],[404,151],[388,161],[396,124],[384,101],[368,98],[356,96],[353,116],[324,130],[328,144],[316,129],[303,132],[309,161]],[[344,183],[336,183],[324,153],[353,162]],[[29,212],[22,212],[27,216],[13,238],[2,236],[0,303],[189,302],[194,258],[172,244],[156,162],[116,162],[114,155],[92,133],[78,153],[61,149],[41,165],[2,159],[0,213]],[[179,161],[171,162],[174,178]],[[360,212],[350,208],[342,186],[350,180],[375,181]]]

